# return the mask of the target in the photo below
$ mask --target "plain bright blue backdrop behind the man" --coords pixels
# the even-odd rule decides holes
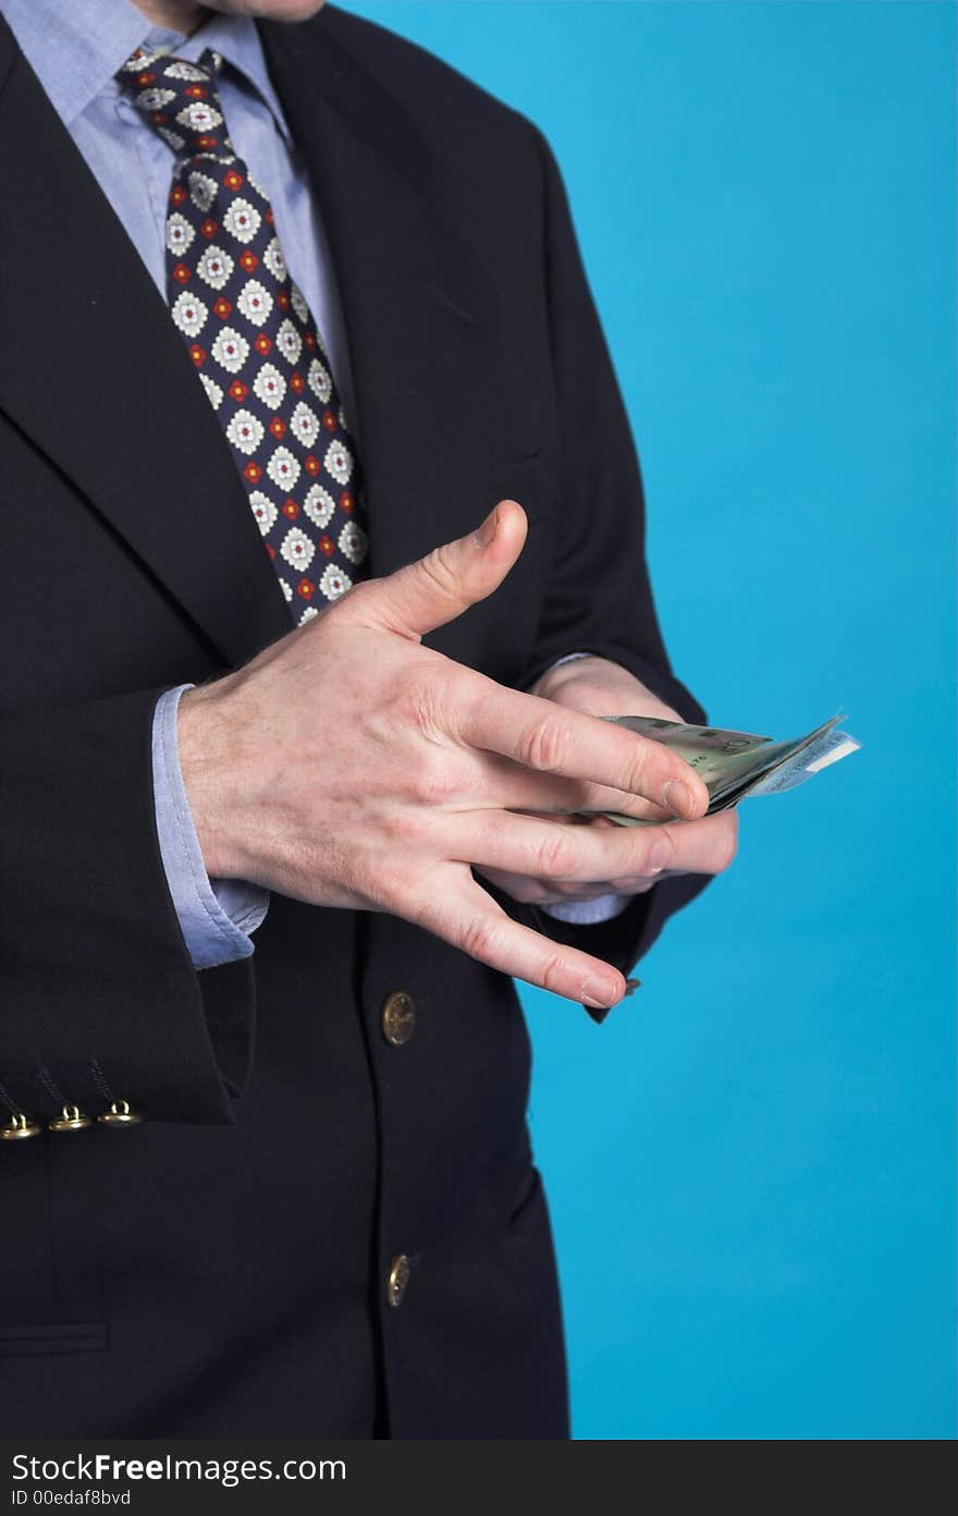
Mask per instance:
[[[602,1029],[524,991],[576,1436],[950,1439],[955,8],[350,8],[552,139],[679,675],[866,744]]]

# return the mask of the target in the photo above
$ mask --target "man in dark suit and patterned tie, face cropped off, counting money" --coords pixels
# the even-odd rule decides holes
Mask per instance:
[[[0,11],[0,1431],[562,1437],[509,976],[734,820],[596,720],[702,713],[556,167],[315,0]]]

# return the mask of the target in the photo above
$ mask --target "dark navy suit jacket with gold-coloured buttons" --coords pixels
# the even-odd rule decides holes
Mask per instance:
[[[261,32],[330,233],[373,573],[514,496],[517,568],[430,643],[518,687],[593,650],[702,719],[543,138],[332,6]],[[285,899],[249,961],[196,972],[183,948],[153,705],[288,612],[183,343],[2,23],[0,203],[0,1099],[144,1117],[0,1143],[0,1434],[561,1437],[509,979],[403,920]],[[512,910],[629,967],[702,882],[602,926]]]

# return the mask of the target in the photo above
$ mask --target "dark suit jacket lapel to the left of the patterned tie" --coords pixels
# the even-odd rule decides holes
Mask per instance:
[[[0,20],[5,53],[0,330],[11,356],[0,408],[220,655],[241,662],[288,631],[290,615],[220,423],[164,300]]]

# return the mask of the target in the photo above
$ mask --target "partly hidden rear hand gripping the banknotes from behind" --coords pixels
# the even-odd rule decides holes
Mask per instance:
[[[628,669],[606,658],[576,658],[559,664],[547,670],[531,693],[587,716],[659,716],[667,722],[682,720],[678,711],[664,705]],[[526,905],[559,905],[568,901],[594,901],[606,894],[644,894],[659,879],[681,873],[722,873],[735,857],[738,843],[735,811],[703,816],[694,822],[676,822],[667,811],[620,790],[599,791],[590,800],[594,810],[672,822],[664,832],[672,838],[672,857],[655,870],[649,869],[625,879],[606,878],[588,882],[535,879],[496,869],[482,869],[484,878]],[[591,820],[570,816],[568,825],[615,829],[615,823],[603,816],[593,816]]]

